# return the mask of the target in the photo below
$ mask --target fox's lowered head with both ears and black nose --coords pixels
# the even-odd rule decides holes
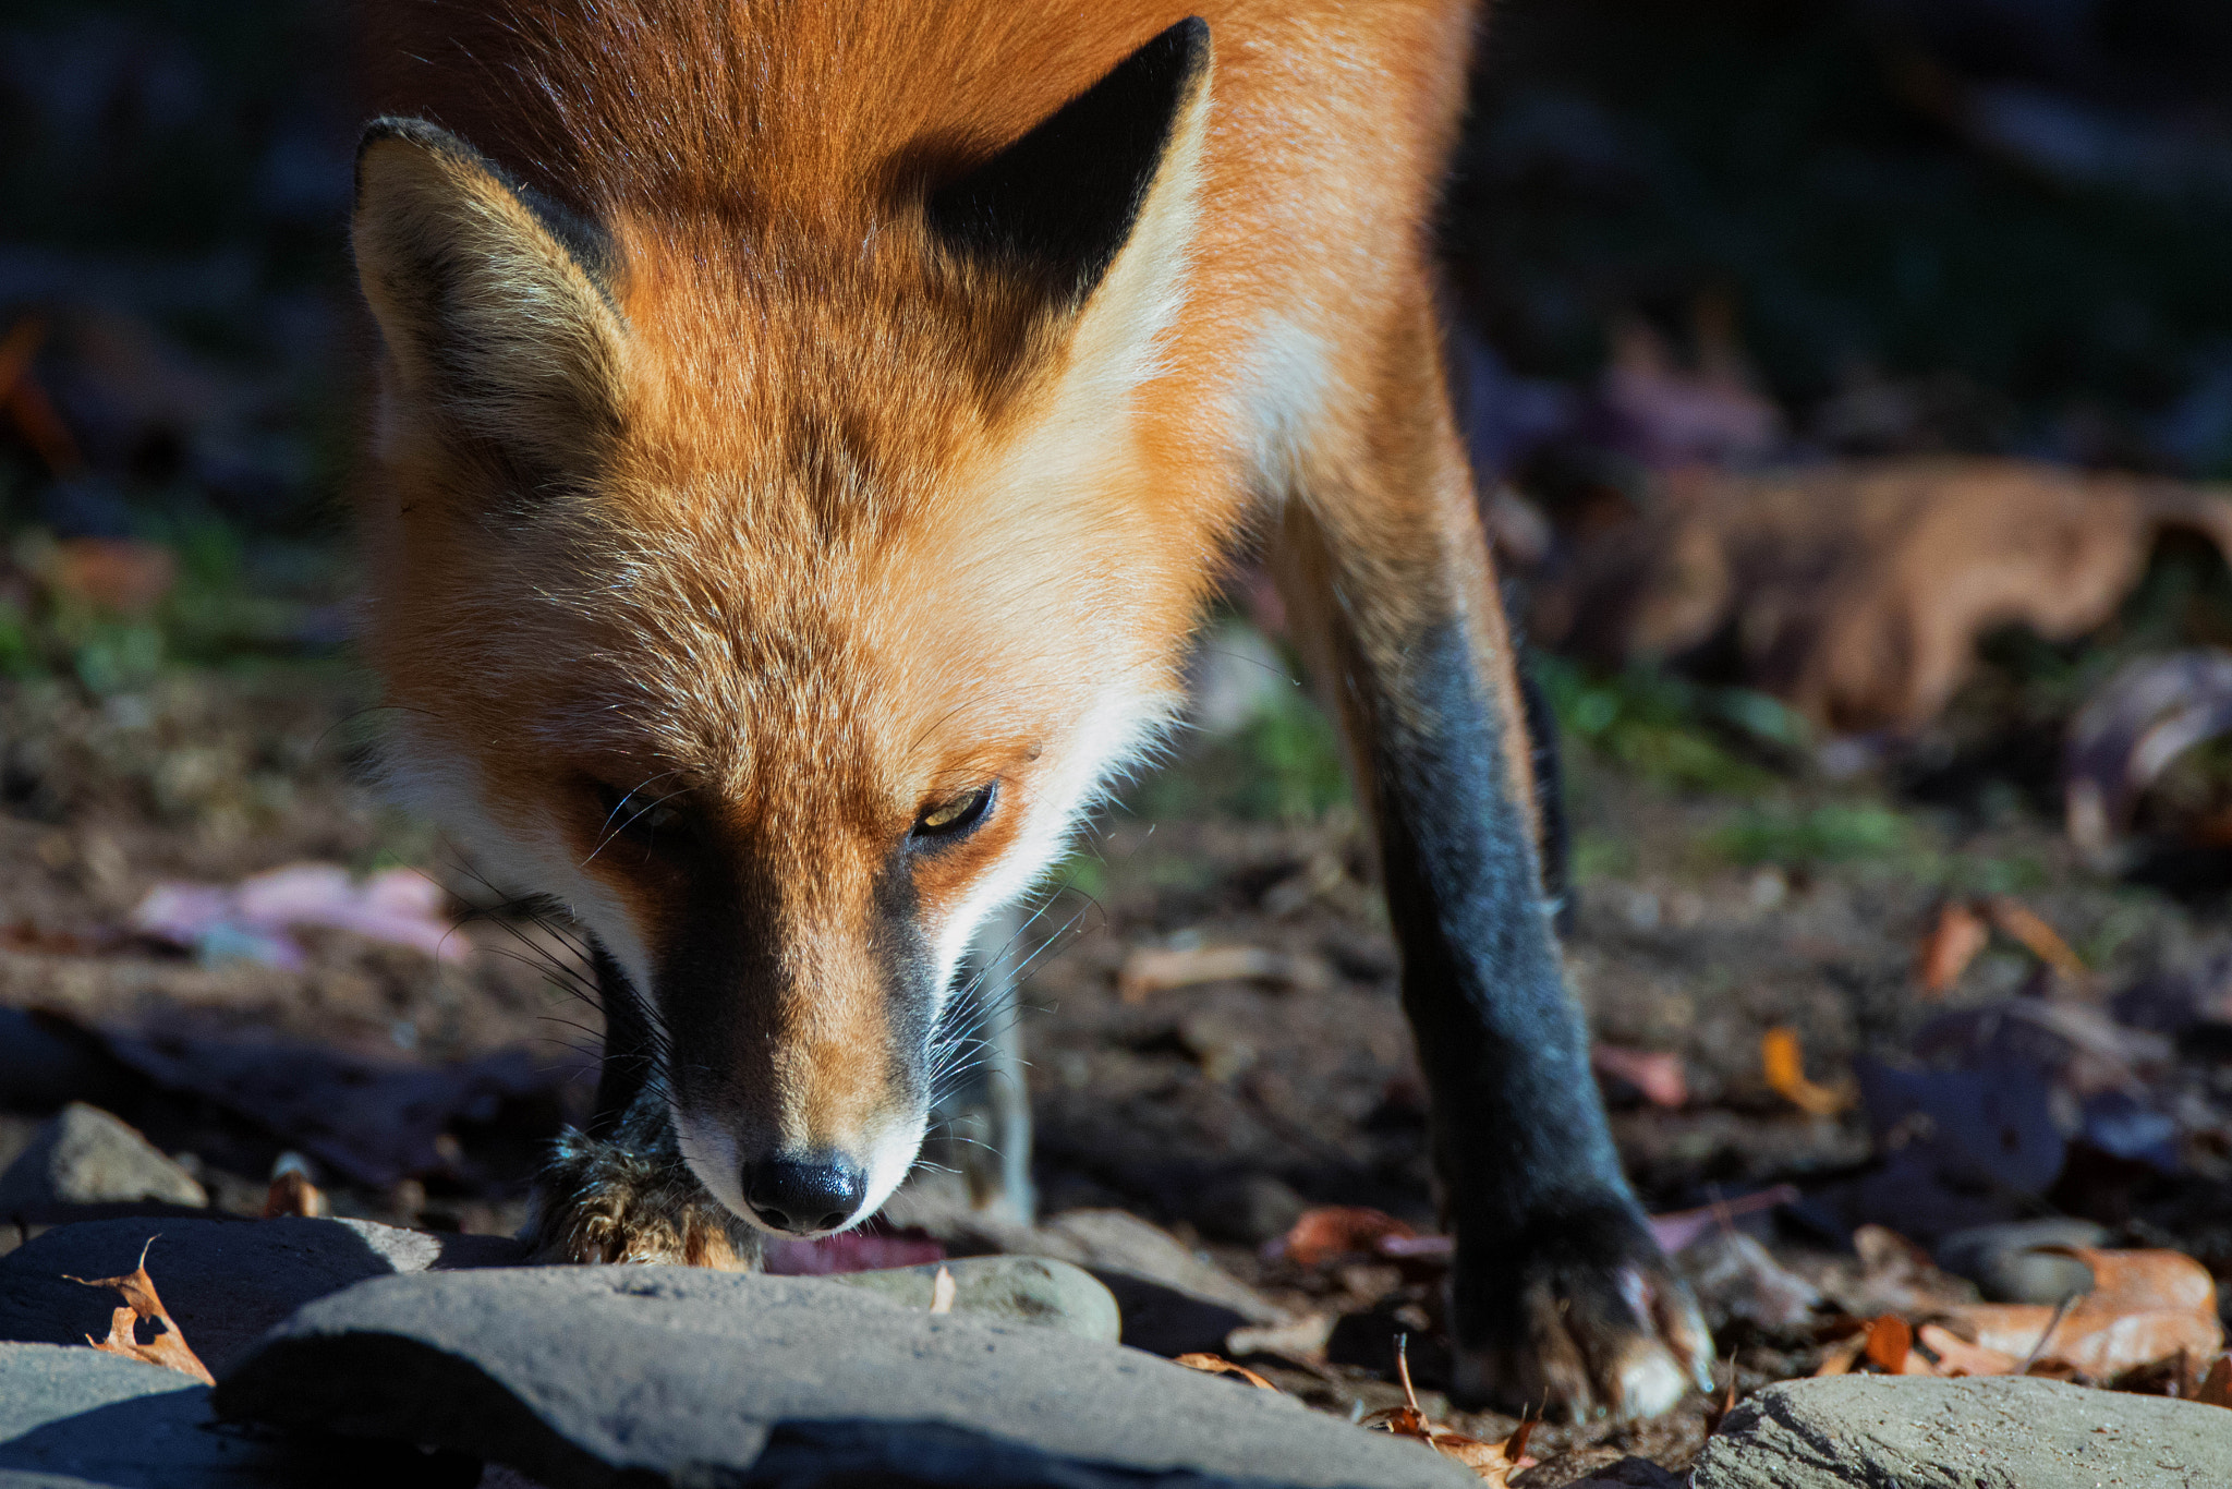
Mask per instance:
[[[763,1228],[899,1183],[971,935],[1172,714],[1205,565],[1138,391],[1205,116],[1194,20],[958,179],[558,208],[362,147],[393,775],[587,926]]]

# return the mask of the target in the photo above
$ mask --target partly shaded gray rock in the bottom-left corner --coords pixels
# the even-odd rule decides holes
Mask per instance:
[[[335,1482],[471,1485],[466,1458],[243,1433],[210,1389],[92,1348],[0,1344],[0,1489],[324,1489]]]

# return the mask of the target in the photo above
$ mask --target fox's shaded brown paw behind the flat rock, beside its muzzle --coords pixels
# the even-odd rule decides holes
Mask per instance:
[[[708,1194],[687,1163],[580,1132],[558,1139],[522,1235],[538,1264],[759,1268],[759,1232]]]

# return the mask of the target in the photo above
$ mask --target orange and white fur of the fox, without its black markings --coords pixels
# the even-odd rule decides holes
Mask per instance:
[[[877,1074],[902,1038],[875,978],[891,844],[1000,784],[984,833],[911,871],[951,969],[1167,719],[1203,598],[1277,502],[1330,556],[1297,605],[1375,667],[1457,616],[1509,705],[1431,335],[1471,4],[1192,9],[1208,83],[1065,315],[935,243],[924,190],[1185,4],[384,13],[382,112],[609,237],[589,284],[480,163],[408,134],[366,150],[357,250],[388,342],[366,643],[397,775],[638,984],[705,911],[612,842],[598,788],[685,792],[743,864],[721,913],[775,951],[701,1051],[719,1078],[676,1098],[703,1118],[685,1145],[920,1127]],[[426,275],[444,252],[471,272]],[[1507,761],[1524,781],[1524,750]]]

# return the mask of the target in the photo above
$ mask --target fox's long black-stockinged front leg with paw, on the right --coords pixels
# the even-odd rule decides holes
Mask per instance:
[[[1620,1174],[1565,987],[1524,703],[1431,319],[1388,364],[1370,435],[1303,467],[1272,565],[1379,835],[1457,1239],[1457,1395],[1656,1415],[1710,1389],[1712,1339]]]

